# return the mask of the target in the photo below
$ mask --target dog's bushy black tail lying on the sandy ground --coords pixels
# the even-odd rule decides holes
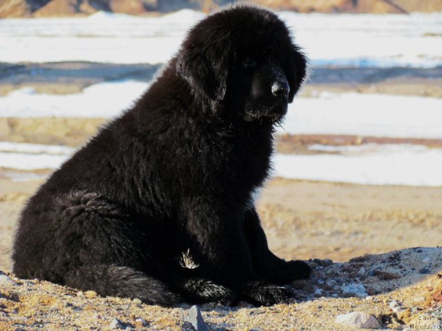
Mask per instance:
[[[151,305],[171,306],[180,301],[166,283],[120,265],[84,265],[67,272],[64,284],[79,290],[94,290],[103,296],[136,298]]]

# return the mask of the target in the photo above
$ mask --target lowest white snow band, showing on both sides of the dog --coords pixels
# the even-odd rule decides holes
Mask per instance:
[[[442,150],[416,145],[322,146],[310,150],[337,154],[276,154],[273,175],[291,179],[369,185],[442,185]],[[27,143],[0,143],[0,167],[15,170],[59,168],[72,148]],[[35,179],[3,174],[12,179]]]

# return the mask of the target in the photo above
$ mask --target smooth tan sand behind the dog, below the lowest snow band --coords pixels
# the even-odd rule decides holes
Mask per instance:
[[[39,183],[0,179],[0,270],[11,270],[17,217]],[[347,261],[440,245],[441,201],[442,188],[274,179],[262,190],[258,209],[269,245],[280,257]]]

